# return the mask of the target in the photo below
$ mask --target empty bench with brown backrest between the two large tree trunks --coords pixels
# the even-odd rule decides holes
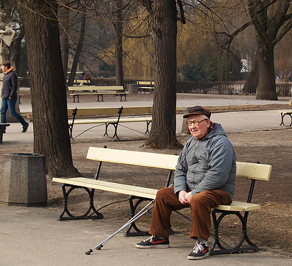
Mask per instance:
[[[113,136],[111,138],[117,138],[120,140],[119,136],[117,136],[117,127],[120,123],[137,123],[137,122],[146,122],[146,132],[148,134],[150,132],[150,123],[152,122],[151,116],[146,116],[145,114],[152,114],[153,107],[152,106],[131,106],[131,107],[108,107],[108,108],[68,108],[68,117],[73,116],[73,119],[69,119],[69,131],[70,137],[73,138],[73,127],[74,125],[82,125],[82,124],[96,124],[91,128],[95,128],[98,125],[105,125],[104,136],[109,136],[109,125],[113,125],[115,130]],[[133,117],[121,117],[122,114],[135,115]],[[139,114],[139,116],[138,116]],[[76,119],[76,117],[92,117],[92,116],[100,116],[100,115],[110,115],[115,117],[106,117],[106,118],[95,118],[95,119]],[[89,128],[89,129],[91,129]],[[89,130],[87,129],[87,130]],[[85,130],[84,132],[86,132]],[[83,134],[82,132],[81,134]],[[78,136],[80,136],[79,134]],[[76,136],[77,137],[77,136]],[[75,138],[76,138],[75,137]]]

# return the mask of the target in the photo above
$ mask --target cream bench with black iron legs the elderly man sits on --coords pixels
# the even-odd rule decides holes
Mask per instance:
[[[133,152],[125,151],[119,149],[106,149],[100,147],[89,147],[87,153],[87,159],[98,161],[98,169],[96,171],[96,176],[92,178],[53,178],[54,182],[62,183],[63,189],[63,198],[64,198],[64,208],[59,219],[87,219],[91,217],[89,213],[93,210],[93,214],[96,214],[98,218],[102,218],[102,214],[98,213],[93,204],[93,195],[96,189],[102,191],[111,191],[115,193],[122,193],[130,195],[129,203],[131,209],[131,217],[135,215],[135,210],[137,206],[145,200],[153,200],[156,197],[157,189],[149,189],[142,186],[131,186],[126,184],[120,184],[115,182],[106,182],[99,180],[99,174],[101,171],[102,162],[111,162],[118,163],[122,165],[133,165],[133,166],[142,166],[142,167],[152,167],[153,175],[156,174],[155,169],[167,169],[168,176],[166,178],[166,187],[170,186],[170,179],[172,176],[172,171],[175,170],[177,165],[176,155],[169,154],[155,154],[148,152]],[[212,218],[214,223],[214,241],[212,244],[211,254],[223,254],[223,253],[235,253],[247,250],[258,250],[258,247],[252,243],[247,236],[247,218],[249,211],[258,210],[260,208],[259,204],[251,203],[251,197],[254,191],[254,185],[256,180],[268,181],[271,174],[271,165],[261,165],[258,163],[249,163],[249,162],[236,162],[236,178],[246,178],[251,180],[249,187],[249,195],[247,197],[247,202],[232,202],[230,205],[218,205],[212,210]],[[126,169],[121,171],[121,175],[128,176],[128,171]],[[139,182],[139,180],[135,181]],[[66,188],[69,189],[66,190]],[[85,189],[89,194],[89,209],[80,216],[72,215],[67,206],[68,197],[71,191],[74,189]],[[133,199],[137,199],[137,202],[133,204]],[[216,214],[220,213],[219,217],[216,217]],[[243,215],[241,214],[243,213]],[[67,217],[64,215],[67,214]],[[239,217],[242,223],[242,232],[241,239],[237,245],[234,247],[225,247],[221,244],[221,239],[219,237],[219,225],[226,215],[236,215]],[[131,228],[135,229],[136,232],[130,232]],[[133,221],[128,230],[126,231],[126,236],[130,235],[146,235],[148,232],[142,232],[135,225]],[[242,247],[243,242],[247,241],[249,247]],[[219,250],[215,250],[215,247],[218,246]]]

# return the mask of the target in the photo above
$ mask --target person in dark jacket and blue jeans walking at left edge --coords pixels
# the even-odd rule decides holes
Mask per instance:
[[[22,132],[26,132],[29,124],[21,117],[21,114],[17,113],[15,110],[18,88],[17,75],[14,73],[10,61],[1,62],[1,69],[4,74],[1,91],[1,123],[6,123],[6,112],[9,110],[12,117],[15,117],[23,126]]]

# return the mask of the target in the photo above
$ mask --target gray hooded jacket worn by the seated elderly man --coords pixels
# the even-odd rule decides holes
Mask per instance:
[[[222,189],[233,199],[236,155],[220,124],[199,141],[191,137],[183,147],[175,171],[175,193]]]

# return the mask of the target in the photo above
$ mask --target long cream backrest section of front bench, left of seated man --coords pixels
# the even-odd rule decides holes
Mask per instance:
[[[124,165],[137,165],[175,170],[177,155],[154,154],[151,152],[124,151],[121,149],[106,149],[89,147],[87,159],[100,162],[116,162]]]

